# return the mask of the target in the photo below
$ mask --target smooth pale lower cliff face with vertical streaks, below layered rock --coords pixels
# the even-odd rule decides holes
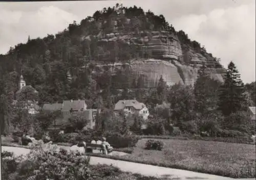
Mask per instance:
[[[98,64],[97,66],[104,65]],[[124,64],[115,63],[109,64],[109,66],[111,66],[111,71],[115,72],[116,69],[123,68]],[[130,68],[132,74],[137,78],[142,75],[147,88],[156,87],[161,76],[169,86],[179,83],[194,86],[197,80],[197,71],[200,68],[183,65],[178,61],[168,62],[157,59],[133,60],[130,64],[125,64],[125,67]],[[224,72],[222,68],[208,69],[210,77],[220,82],[224,82],[222,76]]]

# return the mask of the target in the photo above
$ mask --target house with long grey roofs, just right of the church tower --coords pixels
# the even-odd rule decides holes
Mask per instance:
[[[100,110],[87,109],[85,100],[63,100],[62,103],[44,104],[43,111],[61,111],[61,117],[55,119],[49,130],[62,130],[65,126],[70,125],[69,118],[77,113],[84,114],[86,120],[89,121],[86,128],[94,128],[96,123],[96,115]]]

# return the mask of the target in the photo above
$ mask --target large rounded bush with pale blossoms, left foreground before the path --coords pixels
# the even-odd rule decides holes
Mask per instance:
[[[87,179],[90,177],[89,161],[90,158],[78,153],[38,141],[20,161],[16,179]]]

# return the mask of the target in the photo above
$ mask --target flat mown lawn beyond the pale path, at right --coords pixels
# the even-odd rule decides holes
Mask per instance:
[[[139,140],[131,155],[133,162],[186,169],[228,177],[255,177],[255,145],[197,140],[161,140],[162,151],[145,150]]]

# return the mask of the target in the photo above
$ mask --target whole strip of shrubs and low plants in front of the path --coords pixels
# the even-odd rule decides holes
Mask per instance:
[[[89,165],[90,158],[59,149],[56,145],[43,144],[42,141],[31,146],[31,152],[25,157],[13,157],[13,153],[3,152],[4,179],[72,179],[72,180],[156,180],[140,174],[122,172],[108,165]]]

